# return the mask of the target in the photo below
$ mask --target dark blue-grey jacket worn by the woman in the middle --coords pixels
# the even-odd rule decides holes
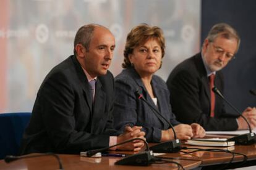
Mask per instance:
[[[156,116],[151,108],[142,99],[138,99],[136,91],[139,90],[143,97],[159,110],[161,115],[166,118],[173,126],[179,124],[174,114],[171,112],[169,104],[169,91],[163,79],[153,76],[151,86],[158,99],[158,107],[151,99],[147,89],[142,83],[142,79],[134,68],[122,70],[116,76],[116,98],[114,101],[114,126],[116,129],[124,130],[126,125],[143,126],[148,142],[160,142],[161,130],[169,129],[169,124],[160,116]]]

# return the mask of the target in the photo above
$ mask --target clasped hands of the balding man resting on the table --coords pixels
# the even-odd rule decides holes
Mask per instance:
[[[117,137],[117,144],[124,142],[129,139],[140,138],[145,139],[145,132],[140,131],[142,129],[141,126],[130,127],[127,126],[124,129],[124,132]],[[119,150],[133,150],[139,151],[144,146],[144,142],[142,140],[134,140],[132,142],[128,142],[127,144],[117,146]]]

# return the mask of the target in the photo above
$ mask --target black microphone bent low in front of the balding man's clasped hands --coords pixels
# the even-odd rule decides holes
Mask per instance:
[[[134,155],[126,156],[126,158],[123,158],[122,160],[116,161],[115,164],[148,166],[151,163],[153,163],[153,161],[155,161],[155,156],[153,155],[153,152],[149,149],[148,142],[146,140],[140,139],[140,138],[134,138],[134,139],[126,140],[126,141],[121,142],[119,144],[112,145],[112,146],[105,147],[105,148],[100,148],[100,149],[96,149],[96,150],[89,150],[86,154],[87,154],[88,157],[91,157],[91,156],[95,155],[98,152],[104,152],[104,151],[108,150],[109,148],[113,148],[113,147],[116,147],[118,145],[123,145],[123,144],[126,144],[128,142],[132,142],[134,140],[142,140],[146,144],[146,147],[147,147],[146,150],[143,151],[143,152],[136,153]]]

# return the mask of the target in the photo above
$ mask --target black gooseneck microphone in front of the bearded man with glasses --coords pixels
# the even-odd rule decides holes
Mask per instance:
[[[250,145],[250,144],[254,144],[256,138],[255,138],[255,134],[252,132],[252,128],[250,127],[249,122],[247,121],[247,119],[242,115],[242,113],[240,113],[231,103],[228,102],[228,100],[226,100],[224,98],[224,96],[221,94],[221,92],[218,90],[217,87],[213,87],[211,89],[213,92],[215,92],[215,94],[219,95],[221,97],[221,99],[223,99],[226,103],[228,103],[228,105],[233,108],[240,116],[242,116],[242,118],[245,120],[245,122],[248,124],[249,127],[249,133],[248,134],[241,134],[239,136],[235,136],[232,137],[228,140],[232,140],[235,141],[236,144],[240,144],[240,145]]]

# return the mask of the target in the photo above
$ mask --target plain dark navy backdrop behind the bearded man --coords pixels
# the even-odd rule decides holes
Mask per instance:
[[[256,1],[204,0],[202,1],[202,41],[211,26],[218,22],[232,25],[241,36],[236,59],[223,69],[225,95],[240,111],[247,106],[256,107],[256,96],[249,93],[256,88]],[[231,108],[228,107],[231,111]],[[232,110],[231,112],[234,113]]]

